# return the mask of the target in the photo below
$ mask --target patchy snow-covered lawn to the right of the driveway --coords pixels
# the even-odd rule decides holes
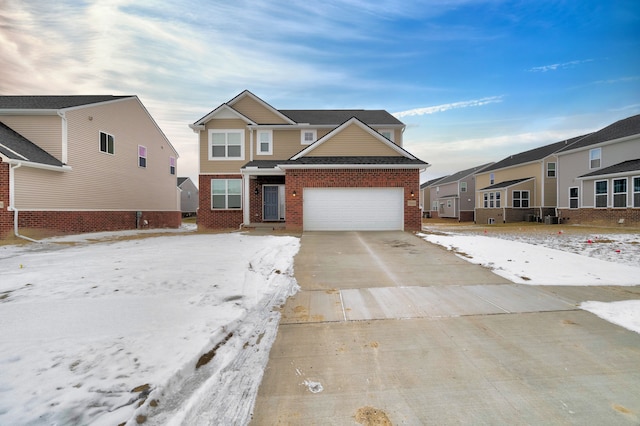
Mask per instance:
[[[640,285],[640,234],[578,227],[425,226],[425,240],[529,285]],[[582,309],[640,333],[640,300],[588,301]]]

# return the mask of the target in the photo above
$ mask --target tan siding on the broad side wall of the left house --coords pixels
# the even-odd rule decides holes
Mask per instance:
[[[40,210],[177,211],[177,154],[138,102],[126,99],[67,112],[68,172],[22,167],[16,173],[16,205]],[[100,152],[99,133],[114,136],[115,154]],[[138,145],[147,167],[138,167]]]

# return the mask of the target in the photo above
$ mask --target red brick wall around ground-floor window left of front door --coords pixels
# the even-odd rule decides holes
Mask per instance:
[[[200,207],[198,209],[198,229],[231,229],[242,224],[242,210],[212,210],[211,209],[211,179],[242,179],[242,175],[200,175],[198,194]],[[253,190],[251,189],[251,196]]]

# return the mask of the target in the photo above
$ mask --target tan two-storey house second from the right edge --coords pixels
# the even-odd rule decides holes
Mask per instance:
[[[555,217],[558,170],[553,154],[582,137],[510,155],[476,173],[476,223]]]

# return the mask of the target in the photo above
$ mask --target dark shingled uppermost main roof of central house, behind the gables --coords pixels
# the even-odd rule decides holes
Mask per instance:
[[[404,124],[385,110],[366,109],[283,109],[281,113],[296,123],[311,125],[339,125],[352,117],[356,117],[369,126],[404,126]]]

